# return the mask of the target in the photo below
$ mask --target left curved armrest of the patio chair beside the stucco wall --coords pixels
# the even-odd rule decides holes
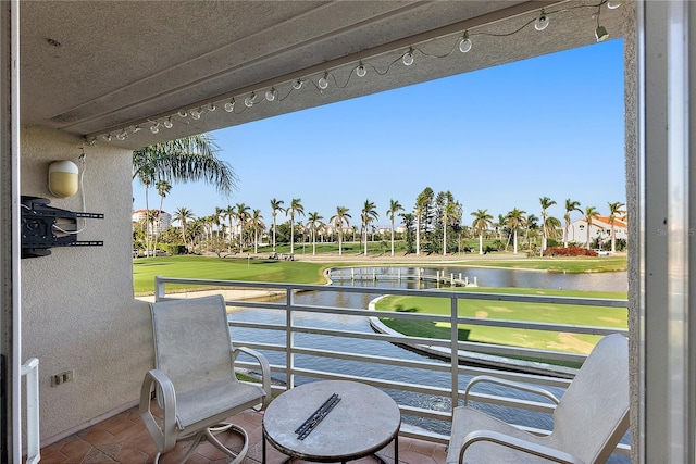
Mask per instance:
[[[158,401],[164,413],[164,423],[160,427],[152,415],[152,387],[158,389]],[[160,369],[150,369],[145,374],[142,386],[140,387],[140,417],[146,428],[152,436],[157,449],[160,453],[165,453],[174,448],[177,438],[176,427],[176,394],[174,384]]]

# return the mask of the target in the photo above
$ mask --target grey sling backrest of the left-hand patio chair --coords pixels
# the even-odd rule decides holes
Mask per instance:
[[[219,294],[150,303],[156,367],[177,394],[208,383],[236,381],[225,301]]]

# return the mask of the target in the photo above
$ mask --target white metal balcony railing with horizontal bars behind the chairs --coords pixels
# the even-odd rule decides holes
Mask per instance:
[[[156,299],[160,301],[200,294],[197,291],[190,294],[181,293],[181,290],[177,293],[176,288],[200,288],[225,297],[231,311],[233,342],[257,349],[270,356],[271,371],[281,380],[274,387],[275,390],[283,391],[308,379],[362,381],[394,393],[393,397],[405,416],[400,431],[402,436],[440,443],[447,443],[449,439],[452,406],[461,404],[463,389],[472,376],[488,374],[539,385],[560,397],[570,384],[573,369],[556,367],[554,363],[580,364],[586,358],[584,354],[570,352],[460,341],[461,325],[595,336],[622,333],[627,336],[626,329],[460,317],[457,312],[459,305],[465,304],[467,300],[488,300],[497,302],[498,305],[504,305],[505,302],[533,302],[606,308],[627,308],[627,300],[462,292],[442,288],[408,290],[167,277],[156,278]],[[338,306],[301,301],[306,294],[315,296],[314,300],[321,301],[324,293],[333,293],[328,300],[341,301],[356,294],[360,296],[361,301],[368,302],[385,294],[447,299],[451,311],[445,316],[414,312],[380,312],[371,309],[371,304],[343,303]],[[236,317],[236,314],[240,313],[257,316],[251,319]],[[383,330],[378,328],[380,318],[447,325],[450,327],[450,338],[409,337]],[[364,326],[356,329],[347,322],[351,319],[372,321],[373,324],[368,326],[369,329]],[[241,338],[238,333],[243,334]],[[257,336],[261,333],[265,336]],[[339,343],[337,340],[343,341]],[[366,344],[387,344],[406,349],[399,348],[399,353],[402,354],[394,355],[391,352],[385,354],[380,349],[365,352]],[[549,363],[529,359],[542,359]],[[251,362],[237,360],[237,363],[253,369]],[[539,369],[543,374],[538,373]],[[539,401],[538,397],[494,387],[490,391],[470,393],[471,400],[481,402],[484,409],[502,415],[506,421],[523,429],[537,434],[549,431],[549,413],[552,412],[554,404]],[[629,450],[627,444],[620,444],[617,451],[627,454]]]

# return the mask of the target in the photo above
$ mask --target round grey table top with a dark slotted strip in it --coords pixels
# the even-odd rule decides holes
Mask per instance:
[[[340,401],[303,440],[295,430],[332,394]],[[346,380],[291,388],[263,414],[263,435],[279,451],[318,462],[351,461],[386,447],[399,432],[401,413],[382,390]]]

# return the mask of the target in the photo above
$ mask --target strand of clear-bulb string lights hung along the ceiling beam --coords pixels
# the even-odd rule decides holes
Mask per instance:
[[[328,77],[331,76],[334,80],[334,84],[336,85],[336,87],[338,88],[346,88],[348,86],[348,84],[350,83],[350,78],[353,75],[353,71],[355,71],[355,75],[358,77],[364,77],[368,74],[368,66],[371,67],[371,70],[373,70],[377,75],[380,76],[385,76],[389,73],[389,71],[391,70],[391,66],[395,65],[398,62],[401,62],[401,64],[403,64],[405,66],[411,66],[414,63],[414,52],[418,51],[420,54],[426,57],[426,58],[435,58],[435,59],[443,59],[443,58],[447,58],[449,55],[451,55],[453,52],[456,52],[457,50],[459,50],[459,52],[461,53],[469,53],[472,49],[473,49],[473,40],[472,37],[474,36],[489,36],[489,37],[509,37],[512,35],[515,35],[518,33],[520,33],[521,30],[523,30],[524,28],[526,28],[527,26],[534,24],[534,28],[536,30],[545,30],[548,25],[549,25],[549,17],[551,15],[556,15],[558,13],[561,12],[566,12],[569,10],[575,10],[575,9],[580,9],[580,8],[593,8],[593,9],[597,9],[596,13],[593,14],[593,18],[596,18],[596,28],[594,29],[594,35],[595,35],[595,39],[600,42],[606,40],[609,37],[609,34],[607,32],[607,28],[601,25],[599,23],[599,13],[601,11],[601,7],[604,7],[605,4],[607,5],[607,8],[609,10],[614,10],[617,8],[619,8],[621,5],[622,1],[621,0],[598,0],[598,3],[595,4],[577,4],[574,7],[569,7],[569,8],[564,8],[564,9],[560,9],[560,10],[555,10],[555,11],[545,11],[544,9],[538,11],[538,15],[535,17],[530,18],[529,21],[526,21],[524,24],[522,24],[521,26],[519,26],[518,28],[510,30],[508,33],[488,33],[485,30],[480,30],[483,27],[485,27],[485,25],[481,25],[481,26],[476,26],[473,30],[470,29],[465,29],[463,32],[463,34],[457,36],[457,39],[453,43],[453,47],[450,49],[449,52],[445,53],[445,54],[433,54],[433,53],[428,53],[426,51],[424,51],[422,48],[419,48],[419,46],[410,46],[408,48],[408,50],[406,52],[403,52],[402,54],[397,55],[397,58],[395,58],[388,65],[386,65],[386,67],[381,66],[376,67],[371,63],[364,63],[362,60],[360,60],[358,62],[358,64],[356,66],[353,66],[350,71],[349,74],[347,74],[347,78],[341,79],[338,78],[337,76],[334,75],[333,73],[330,73],[328,71],[324,71],[323,75],[316,80],[315,87],[316,89],[321,92],[325,89],[328,88]],[[372,72],[372,71],[371,71]],[[311,81],[311,80],[310,80]],[[304,78],[302,77],[296,77],[293,78],[293,80],[290,80],[289,83],[285,83],[285,85],[287,85],[287,90],[284,90],[283,93],[281,95],[281,91],[278,89],[283,88],[283,83],[276,84],[274,86],[271,86],[270,89],[265,90],[263,95],[265,98],[261,99],[261,103],[263,102],[273,102],[273,101],[284,101],[286,98],[288,98],[290,96],[290,93],[293,93],[296,90],[300,90],[303,87],[303,83],[304,83]],[[259,89],[259,92],[263,91],[262,89]],[[224,103],[223,103],[224,102]],[[245,99],[244,99],[244,108],[241,108],[241,110],[239,111],[239,113],[244,112],[245,110],[248,110],[252,106],[254,106],[256,104],[258,104],[259,102],[257,102],[257,91],[252,91],[250,95],[248,95]],[[173,113],[170,116],[163,116],[162,118],[158,118],[158,120],[151,120],[148,121],[148,123],[150,124],[149,129],[152,134],[159,134],[160,131],[160,127],[165,127],[167,129],[171,129],[174,126],[174,123],[172,121],[172,117],[177,115],[178,117],[181,117],[182,120],[187,120],[187,118],[191,118],[191,120],[200,120],[207,112],[213,112],[216,110],[216,104],[222,104],[224,110],[227,113],[235,113],[235,108],[236,108],[236,100],[234,97],[229,98],[227,97],[225,100],[219,100],[219,101],[211,101],[211,102],[204,102],[202,103],[201,106],[198,106],[196,109],[191,109],[191,110],[179,110],[176,113]],[[147,127],[147,126],[146,126]],[[130,128],[123,128],[121,129],[120,133],[117,133],[117,135],[115,136],[116,139],[119,140],[125,140],[128,137],[128,134],[136,134],[138,131],[142,130],[141,124],[137,124],[134,126],[130,126]],[[113,134],[109,133],[107,135],[101,136],[104,140],[107,141],[111,141]],[[92,141],[96,141],[96,138],[92,139]]]

